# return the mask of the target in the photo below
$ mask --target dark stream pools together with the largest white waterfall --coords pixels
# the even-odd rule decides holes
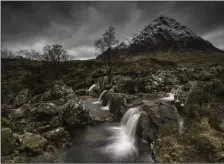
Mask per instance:
[[[100,118],[108,115],[109,111],[101,110],[101,104],[92,104],[95,99],[84,101],[92,116]],[[130,108],[121,123],[75,129],[73,145],[61,155],[61,162],[153,162],[149,143],[137,140],[135,136],[139,117],[139,110]]]

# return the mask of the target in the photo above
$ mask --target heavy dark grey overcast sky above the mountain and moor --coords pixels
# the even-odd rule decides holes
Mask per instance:
[[[93,58],[109,25],[122,41],[159,15],[224,50],[224,2],[1,2],[1,15],[2,48],[12,51],[61,44],[76,59]]]

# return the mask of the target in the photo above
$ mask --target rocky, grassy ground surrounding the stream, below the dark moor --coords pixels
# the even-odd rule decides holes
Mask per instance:
[[[93,78],[91,91],[62,80],[35,96],[25,88],[13,104],[2,105],[2,162],[57,162],[58,153],[75,144],[76,129],[118,122],[132,107],[141,111],[136,137],[151,144],[155,161],[222,162],[223,70],[178,66],[117,73],[112,87],[106,76]],[[109,111],[98,115],[89,110],[88,98],[104,90],[102,104]]]

